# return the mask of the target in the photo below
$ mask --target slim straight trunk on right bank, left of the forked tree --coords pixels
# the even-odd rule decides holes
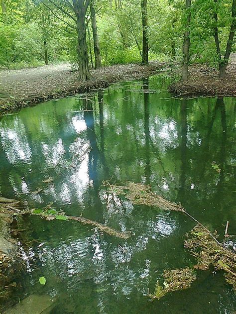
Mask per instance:
[[[190,48],[190,21],[191,21],[191,0],[185,0],[185,10],[187,12],[187,21],[184,33],[183,45],[183,68],[182,81],[188,81],[188,67],[189,67],[189,48]]]

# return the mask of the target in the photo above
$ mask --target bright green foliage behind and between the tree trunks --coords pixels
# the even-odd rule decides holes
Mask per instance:
[[[6,1],[6,12],[0,15],[0,67],[42,65],[45,61],[45,47],[49,63],[69,60],[78,64],[75,21],[50,1],[44,3],[46,5],[38,0]],[[61,5],[64,7],[65,4]],[[140,0],[122,0],[121,5],[118,5],[118,1],[97,0],[94,5],[103,65],[141,62]],[[232,23],[231,7],[232,0],[219,0],[218,3],[215,0],[192,1],[191,62],[217,65],[219,57],[214,30],[217,26],[224,54]],[[68,6],[64,9],[68,10]],[[183,32],[187,17],[184,1],[148,1],[147,12],[149,60],[182,60]],[[217,21],[214,13],[218,14]],[[88,10],[90,36],[87,34],[87,42],[90,43],[89,54],[94,61],[90,14]],[[236,43],[233,44],[234,51]]]

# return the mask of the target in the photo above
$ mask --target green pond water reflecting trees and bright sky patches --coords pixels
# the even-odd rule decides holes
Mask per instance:
[[[168,83],[126,82],[0,119],[0,195],[33,208],[53,202],[68,215],[132,232],[122,240],[79,222],[24,218],[25,235],[37,242],[25,251],[15,298],[49,294],[55,314],[233,313],[234,292],[213,269],[198,272],[190,289],[151,302],[164,269],[194,265],[183,247],[194,223],[180,212],[112,199],[103,187],[110,179],[150,184],[221,239],[227,220],[236,234],[236,99],[175,100]]]

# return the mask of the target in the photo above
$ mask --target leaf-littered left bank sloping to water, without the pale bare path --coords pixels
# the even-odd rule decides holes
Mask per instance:
[[[78,72],[64,70],[61,73],[49,74],[46,77],[33,77],[9,82],[0,92],[0,114],[17,110],[21,107],[36,105],[47,100],[64,98],[76,94],[94,92],[105,89],[111,84],[141,79],[150,75],[157,74],[169,68],[165,62],[153,62],[149,66],[129,64],[105,67],[93,70],[94,80],[90,82],[77,81]],[[3,83],[6,84],[6,83]],[[38,90],[34,84],[40,84]],[[51,84],[51,85],[50,85]],[[2,85],[2,84],[1,84]]]

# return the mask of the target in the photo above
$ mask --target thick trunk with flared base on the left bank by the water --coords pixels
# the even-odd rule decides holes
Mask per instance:
[[[79,80],[88,81],[92,79],[89,72],[89,55],[86,41],[86,22],[85,15],[89,5],[89,0],[73,0],[73,8],[76,14],[76,31],[78,37],[77,54],[79,62]]]

